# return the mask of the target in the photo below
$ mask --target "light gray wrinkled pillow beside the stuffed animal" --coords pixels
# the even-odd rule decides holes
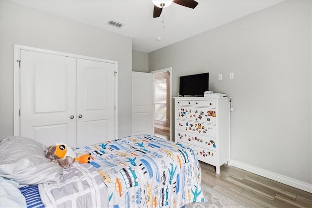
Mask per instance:
[[[59,181],[63,169],[46,158],[46,146],[29,138],[11,136],[0,141],[0,176],[21,185]]]

